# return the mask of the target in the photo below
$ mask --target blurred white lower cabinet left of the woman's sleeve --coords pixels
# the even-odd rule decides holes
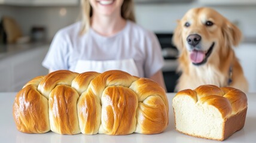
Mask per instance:
[[[20,91],[33,77],[45,75],[48,70],[42,67],[42,60],[48,51],[47,46],[20,52],[0,60],[0,92]]]

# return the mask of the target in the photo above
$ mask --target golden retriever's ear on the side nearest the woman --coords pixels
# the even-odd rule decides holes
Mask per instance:
[[[182,31],[181,31],[181,21],[177,20],[177,27],[174,30],[173,38],[172,38],[172,43],[176,46],[176,48],[179,49],[179,51],[183,47],[183,42],[182,42]]]

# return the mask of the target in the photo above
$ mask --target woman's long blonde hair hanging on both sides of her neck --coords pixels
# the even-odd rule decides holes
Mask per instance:
[[[133,0],[124,0],[123,5],[121,6],[121,17],[123,17],[125,20],[135,22],[135,14],[133,8]],[[81,0],[81,35],[90,29],[90,18],[92,15],[93,11],[89,0]]]

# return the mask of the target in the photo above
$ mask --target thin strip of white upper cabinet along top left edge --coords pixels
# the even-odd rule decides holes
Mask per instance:
[[[0,0],[0,4],[17,6],[61,6],[78,5],[79,0]]]

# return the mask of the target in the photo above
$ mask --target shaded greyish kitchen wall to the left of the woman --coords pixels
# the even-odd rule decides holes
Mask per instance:
[[[15,18],[25,36],[30,35],[31,27],[43,26],[46,28],[47,39],[50,40],[57,30],[74,23],[79,11],[79,7],[0,6],[0,17],[8,15]]]

